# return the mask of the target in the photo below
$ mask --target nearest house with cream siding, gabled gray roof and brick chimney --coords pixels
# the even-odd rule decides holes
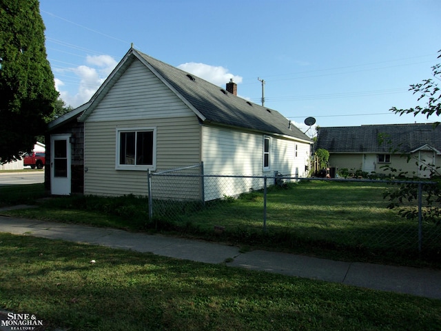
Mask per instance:
[[[130,48],[88,103],[50,123],[51,158],[61,157],[46,176],[52,194],[72,192],[54,191],[63,184],[53,182],[73,182],[75,161],[83,162],[83,192],[102,196],[145,196],[148,169],[200,163],[204,174],[305,177],[311,139],[276,110],[236,94],[232,81],[220,88]],[[249,188],[224,186],[205,191],[204,199]],[[185,188],[170,188],[167,196],[178,199],[178,190]]]

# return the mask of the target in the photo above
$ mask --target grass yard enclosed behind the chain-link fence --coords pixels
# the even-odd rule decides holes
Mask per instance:
[[[304,181],[285,189],[269,188],[266,232],[263,232],[263,192],[238,199],[206,203],[196,210],[165,208],[154,201],[160,221],[207,237],[215,225],[220,238],[336,259],[404,263],[427,259],[441,262],[441,227],[425,222],[422,253],[418,252],[418,222],[387,208],[382,194],[387,183]],[[338,253],[337,253],[338,252]]]

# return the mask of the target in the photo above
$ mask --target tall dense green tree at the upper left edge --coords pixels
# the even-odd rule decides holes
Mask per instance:
[[[32,150],[58,92],[38,0],[0,0],[0,163]]]

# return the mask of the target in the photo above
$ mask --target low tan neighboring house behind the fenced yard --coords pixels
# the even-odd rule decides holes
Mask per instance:
[[[315,149],[329,152],[329,167],[376,174],[429,177],[441,165],[441,126],[393,124],[320,128]],[[410,161],[408,161],[410,158]],[[388,167],[384,168],[384,165]]]

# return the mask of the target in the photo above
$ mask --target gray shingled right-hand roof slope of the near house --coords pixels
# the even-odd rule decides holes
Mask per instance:
[[[234,126],[267,133],[285,134],[311,141],[276,110],[251,103],[204,79],[133,50],[205,117],[207,123]],[[188,76],[190,75],[190,78]],[[291,129],[289,128],[291,127]]]

